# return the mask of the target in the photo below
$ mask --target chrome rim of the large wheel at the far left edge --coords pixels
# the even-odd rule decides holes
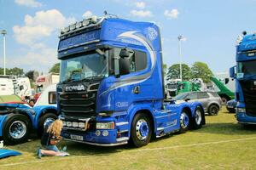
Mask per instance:
[[[21,139],[26,134],[26,123],[15,121],[9,127],[9,135],[14,139]]]

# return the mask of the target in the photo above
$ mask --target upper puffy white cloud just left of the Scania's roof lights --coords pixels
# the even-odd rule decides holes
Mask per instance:
[[[25,26],[14,26],[15,40],[31,45],[42,37],[49,37],[53,31],[75,22],[74,18],[65,18],[57,9],[38,11],[35,16],[26,14]]]

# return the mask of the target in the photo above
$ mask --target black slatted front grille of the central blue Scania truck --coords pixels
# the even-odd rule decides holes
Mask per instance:
[[[64,116],[91,117],[96,115],[96,92],[66,93],[60,95],[60,108]]]

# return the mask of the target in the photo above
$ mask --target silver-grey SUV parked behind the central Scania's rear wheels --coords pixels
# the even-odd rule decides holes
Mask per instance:
[[[222,100],[216,92],[186,92],[177,94],[173,100],[177,103],[199,101],[208,115],[218,115]]]

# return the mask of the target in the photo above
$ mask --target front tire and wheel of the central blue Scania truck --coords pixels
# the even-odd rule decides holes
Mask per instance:
[[[152,136],[153,124],[149,116],[145,113],[137,113],[131,123],[130,144],[136,147],[147,145]]]

